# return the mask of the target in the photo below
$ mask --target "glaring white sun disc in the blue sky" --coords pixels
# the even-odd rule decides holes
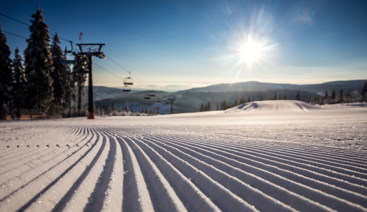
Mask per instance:
[[[261,58],[264,47],[260,43],[253,41],[249,36],[247,42],[239,50],[240,61],[251,66]]]

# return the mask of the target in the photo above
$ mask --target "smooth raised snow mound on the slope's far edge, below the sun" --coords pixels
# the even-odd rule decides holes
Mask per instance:
[[[255,101],[235,106],[225,110],[226,113],[243,112],[243,111],[308,111],[319,109],[318,106],[313,106],[305,102],[296,100],[268,100]]]

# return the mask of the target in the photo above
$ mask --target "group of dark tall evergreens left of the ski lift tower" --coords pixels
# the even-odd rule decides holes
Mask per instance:
[[[76,99],[80,114],[87,78],[83,71],[88,71],[88,59],[76,55],[71,70],[68,64],[62,63],[67,59],[66,49],[62,51],[57,33],[51,42],[39,7],[31,18],[24,59],[18,48],[14,59],[10,59],[11,51],[0,25],[0,116],[71,116],[71,103]]]

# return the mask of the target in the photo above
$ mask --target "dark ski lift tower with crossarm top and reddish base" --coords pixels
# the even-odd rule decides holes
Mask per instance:
[[[104,43],[79,43],[79,55],[88,57],[88,119],[94,119],[94,102],[93,102],[93,84],[92,84],[92,56],[98,58],[106,58],[106,55],[101,52]]]

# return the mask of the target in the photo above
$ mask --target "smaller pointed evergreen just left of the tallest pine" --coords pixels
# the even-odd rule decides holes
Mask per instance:
[[[13,60],[13,111],[17,116],[22,114],[22,109],[26,106],[25,95],[26,95],[26,80],[24,75],[23,59],[19,55],[19,49],[16,48],[14,52]]]

